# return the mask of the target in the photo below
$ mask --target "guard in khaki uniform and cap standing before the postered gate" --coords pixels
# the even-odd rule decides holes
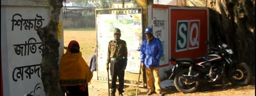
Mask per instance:
[[[115,39],[109,42],[106,68],[107,70],[109,70],[110,63],[110,74],[112,78],[111,96],[115,96],[117,76],[119,81],[119,96],[123,96],[122,93],[124,92],[124,70],[126,69],[127,65],[127,45],[124,40],[120,39],[120,29],[116,28],[114,30],[114,37]]]

